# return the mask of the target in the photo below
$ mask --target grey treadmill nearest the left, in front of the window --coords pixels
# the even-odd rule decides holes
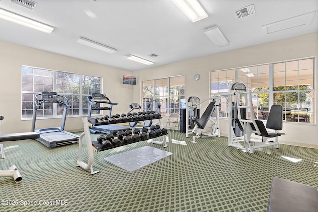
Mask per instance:
[[[33,107],[32,131],[40,134],[40,137],[36,140],[48,148],[78,142],[79,135],[64,130],[67,109],[71,108],[68,99],[65,96],[58,95],[56,92],[50,91],[43,91],[42,93],[36,94],[34,97],[36,101],[34,101]],[[61,127],[50,127],[35,130],[37,110],[41,108],[43,103],[56,103],[60,106],[64,106]]]

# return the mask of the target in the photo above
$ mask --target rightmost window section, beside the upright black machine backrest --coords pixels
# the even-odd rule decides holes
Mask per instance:
[[[314,59],[273,65],[274,104],[281,104],[291,122],[314,122]]]

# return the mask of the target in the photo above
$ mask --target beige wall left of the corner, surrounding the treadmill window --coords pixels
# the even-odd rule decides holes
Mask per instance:
[[[21,120],[21,68],[22,65],[72,73],[89,74],[103,78],[103,92],[118,105],[114,113],[128,112],[133,101],[133,85],[123,85],[123,75],[132,75],[132,71],[79,60],[51,52],[45,52],[25,46],[0,41],[0,115],[2,133],[31,131],[31,120]],[[106,111],[108,114],[108,111]],[[61,119],[37,120],[36,129],[59,127]],[[67,118],[65,129],[78,131],[83,129],[82,117]]]

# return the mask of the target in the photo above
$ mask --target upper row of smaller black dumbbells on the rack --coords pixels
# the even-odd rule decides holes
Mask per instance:
[[[121,115],[114,114],[110,117],[105,115],[104,117],[95,118],[95,123],[92,124],[115,124],[121,122],[133,122],[133,121],[142,121],[149,119],[159,119],[161,117],[160,113],[146,113],[146,112],[134,112],[134,113],[122,113]]]

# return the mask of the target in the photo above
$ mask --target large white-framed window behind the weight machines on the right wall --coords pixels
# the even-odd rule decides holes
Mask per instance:
[[[228,90],[229,82],[242,82],[252,91],[256,119],[266,120],[270,105],[280,104],[284,121],[314,123],[314,72],[314,58],[211,71],[211,96]],[[221,107],[223,117],[226,110]]]

